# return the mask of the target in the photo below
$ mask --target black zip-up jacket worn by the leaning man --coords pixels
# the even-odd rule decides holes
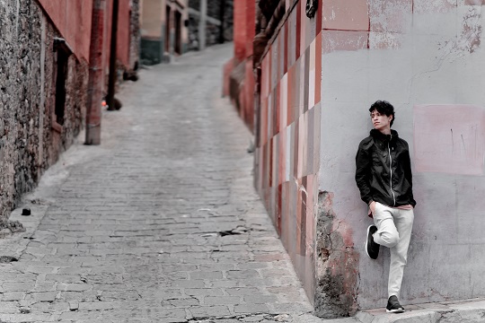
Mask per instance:
[[[384,135],[372,129],[360,142],[356,155],[356,182],[360,197],[388,206],[416,205],[408,143],[398,133]]]

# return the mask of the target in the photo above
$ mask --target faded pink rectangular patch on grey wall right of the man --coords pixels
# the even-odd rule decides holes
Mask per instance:
[[[417,171],[483,175],[485,109],[473,105],[417,105],[414,163]]]

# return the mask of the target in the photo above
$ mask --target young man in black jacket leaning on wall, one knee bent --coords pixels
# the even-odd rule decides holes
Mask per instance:
[[[391,251],[388,297],[389,313],[404,311],[399,303],[402,274],[408,258],[413,209],[410,152],[406,141],[391,130],[394,108],[383,100],[369,109],[374,129],[358,145],[356,182],[369,206],[374,225],[367,228],[366,252],[375,259],[382,245]]]

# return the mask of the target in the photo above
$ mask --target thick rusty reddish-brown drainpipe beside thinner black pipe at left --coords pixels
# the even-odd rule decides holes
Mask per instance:
[[[89,81],[86,106],[86,140],[84,144],[101,144],[101,100],[103,87],[104,12],[106,0],[93,0],[91,44],[89,49]]]

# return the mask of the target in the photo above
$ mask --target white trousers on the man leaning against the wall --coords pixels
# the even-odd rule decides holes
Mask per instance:
[[[395,295],[399,299],[402,274],[408,260],[414,212],[375,203],[373,217],[377,227],[377,231],[374,233],[375,243],[387,247],[391,251],[387,284],[388,297]]]

